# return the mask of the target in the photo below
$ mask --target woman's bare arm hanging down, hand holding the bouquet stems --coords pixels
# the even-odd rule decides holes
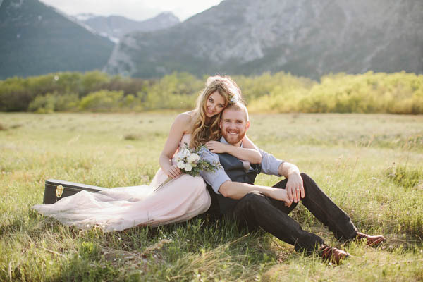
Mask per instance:
[[[172,165],[172,157],[175,154],[176,149],[179,147],[179,142],[182,139],[185,129],[190,122],[190,116],[183,113],[179,114],[171,126],[169,131],[168,139],[164,145],[163,151],[161,151],[159,157],[159,164],[161,169],[166,173],[170,178],[176,178],[180,176],[181,172],[178,166]]]

